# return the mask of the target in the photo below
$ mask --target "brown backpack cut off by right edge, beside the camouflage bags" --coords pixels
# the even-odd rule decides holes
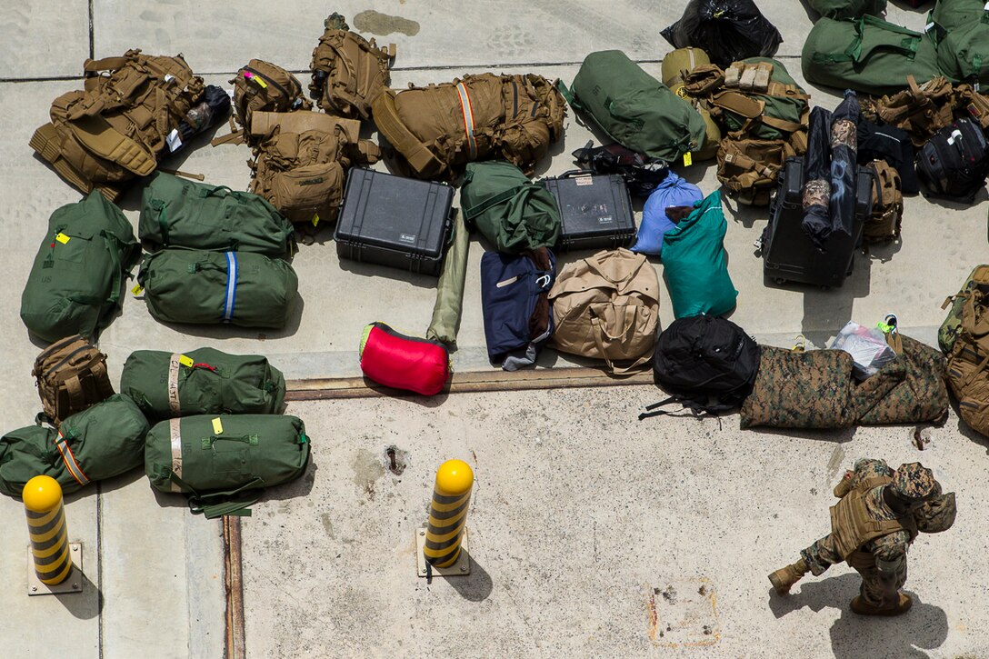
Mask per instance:
[[[947,355],[947,383],[962,421],[989,435],[989,295],[977,287],[964,294],[961,329]]]

